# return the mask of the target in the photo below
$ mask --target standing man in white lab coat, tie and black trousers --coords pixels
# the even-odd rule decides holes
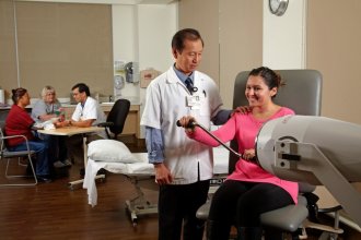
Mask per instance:
[[[213,175],[212,152],[189,140],[176,121],[187,115],[210,127],[224,123],[231,113],[222,110],[214,81],[196,71],[203,40],[196,29],[178,31],[172,39],[175,63],[151,82],[141,124],[145,125],[149,160],[154,165],[159,193],[159,240],[202,239],[203,221],[197,209],[207,201]]]

